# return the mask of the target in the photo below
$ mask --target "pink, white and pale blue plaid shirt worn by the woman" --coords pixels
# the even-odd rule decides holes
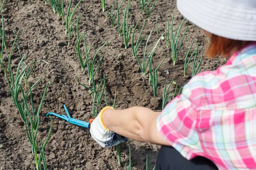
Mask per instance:
[[[256,44],[193,77],[157,128],[186,159],[204,156],[219,170],[256,170]]]

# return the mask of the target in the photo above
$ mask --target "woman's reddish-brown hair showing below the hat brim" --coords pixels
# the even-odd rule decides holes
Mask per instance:
[[[232,40],[212,34],[206,55],[210,58],[215,58],[217,55],[228,54],[233,48],[239,51],[250,42],[251,41]]]

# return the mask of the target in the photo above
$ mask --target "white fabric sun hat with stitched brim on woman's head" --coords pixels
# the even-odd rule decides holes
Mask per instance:
[[[212,34],[256,41],[256,0],[177,0],[177,8],[187,20]]]

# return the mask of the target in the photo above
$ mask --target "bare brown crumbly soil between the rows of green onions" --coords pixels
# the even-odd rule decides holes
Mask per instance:
[[[120,0],[118,1],[120,3]],[[67,0],[65,2],[68,3]],[[73,6],[76,3],[77,1],[74,0]],[[106,0],[106,7],[112,8],[113,3],[113,0]],[[123,13],[126,4],[127,1],[124,1],[121,13]],[[138,27],[141,28],[146,17],[141,13],[137,0],[131,1],[129,11],[131,25],[135,25],[140,20]],[[175,29],[183,19],[177,11],[176,0],[157,0],[151,14],[151,21],[145,25],[145,39],[147,39],[151,28],[155,30],[157,11],[159,12],[160,28],[165,26],[167,18],[172,19],[173,14],[175,15]],[[63,104],[67,105],[73,118],[88,121],[92,117],[93,98],[89,91],[76,82],[77,76],[82,83],[88,84],[87,72],[82,72],[78,58],[74,57],[76,56],[75,34],[71,45],[68,46],[67,35],[64,34],[65,26],[61,18],[58,18],[57,14],[53,14],[49,3],[45,5],[44,0],[7,0],[2,12],[8,46],[10,47],[14,41],[12,30],[20,29],[18,42],[21,53],[27,54],[24,62],[32,64],[39,59],[44,59],[49,63],[49,65],[44,62],[39,63],[29,79],[30,82],[35,82],[39,77],[42,77],[40,84],[33,91],[37,104],[40,103],[46,83],[51,82],[41,110],[39,136],[44,139],[49,131],[50,121],[45,118],[45,115],[48,112],[64,113],[61,108]],[[167,57],[158,72],[158,97],[154,98],[152,88],[148,85],[148,75],[143,76],[136,59],[132,57],[131,44],[125,50],[123,37],[119,37],[117,29],[111,27],[108,18],[106,18],[106,12],[102,13],[100,0],[83,0],[76,11],[76,16],[77,14],[82,15],[80,31],[85,32],[87,44],[92,46],[91,54],[94,54],[106,40],[109,42],[109,45],[101,50],[105,57],[96,75],[96,81],[99,82],[99,79],[105,74],[108,101],[113,103],[116,91],[117,109],[144,106],[160,111],[165,79],[170,82],[174,77],[180,88],[191,78],[191,65],[186,77],[183,77],[183,65],[186,51],[193,38],[196,39],[196,42],[201,38],[200,51],[202,54],[204,54],[204,48],[208,43],[202,30],[192,28],[194,25],[185,21],[182,32],[184,32],[185,26],[189,27],[188,32],[180,51],[180,60],[173,66],[170,49],[166,49],[165,41],[160,42],[154,55],[154,65],[159,64],[165,54]],[[138,34],[139,31],[137,31],[136,37]],[[157,36],[154,31],[149,41],[148,50],[152,49],[159,37],[160,35]],[[193,48],[195,46],[196,43]],[[139,54],[142,51],[140,50]],[[20,57],[17,48],[15,48],[12,56],[13,68],[17,67],[19,61]],[[211,61],[204,59],[202,71],[215,70],[223,64],[224,59]],[[166,74],[166,70],[169,70],[169,74]],[[172,93],[173,91],[174,85]],[[104,105],[105,101],[102,99],[101,108]],[[0,170],[35,169],[23,122],[12,102],[2,70],[0,70],[0,146]],[[152,150],[148,144],[132,141],[132,166],[138,170],[144,170],[146,155],[149,154],[150,169],[152,169],[156,161],[156,146],[153,148]],[[45,153],[50,170],[119,170],[124,169],[125,162],[129,160],[127,144],[123,146],[122,164],[119,166],[114,147],[102,149],[90,137],[88,130],[80,129],[57,118],[53,118],[53,130]]]

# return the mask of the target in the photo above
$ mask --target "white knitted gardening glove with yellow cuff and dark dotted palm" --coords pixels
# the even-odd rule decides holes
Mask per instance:
[[[105,107],[99,113],[99,115],[91,122],[90,134],[93,139],[100,144],[102,147],[112,147],[120,143],[119,140],[114,139],[115,133],[109,130],[102,119],[102,114],[108,108],[114,109],[112,107]]]

